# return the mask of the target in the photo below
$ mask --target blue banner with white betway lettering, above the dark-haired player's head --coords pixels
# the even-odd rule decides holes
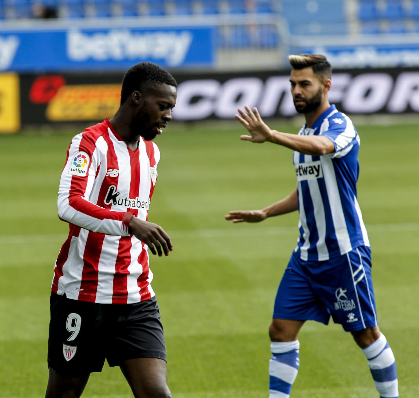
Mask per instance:
[[[209,66],[213,36],[210,27],[0,30],[0,72],[126,70],[142,61]]]

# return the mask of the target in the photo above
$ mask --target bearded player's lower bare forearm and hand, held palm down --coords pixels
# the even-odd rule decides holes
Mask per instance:
[[[279,200],[262,210],[230,211],[227,216],[225,216],[225,219],[233,221],[233,223],[241,223],[243,221],[257,223],[263,221],[267,217],[279,216],[296,210],[298,210],[297,189],[293,190],[286,198]]]

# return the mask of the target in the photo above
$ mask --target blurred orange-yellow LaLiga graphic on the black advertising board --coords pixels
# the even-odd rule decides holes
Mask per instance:
[[[113,116],[121,99],[120,84],[64,85],[48,103],[49,121],[104,120]]]

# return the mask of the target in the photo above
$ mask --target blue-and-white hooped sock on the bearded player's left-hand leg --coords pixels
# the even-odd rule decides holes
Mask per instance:
[[[288,398],[300,365],[300,342],[272,342],[269,360],[269,398]]]

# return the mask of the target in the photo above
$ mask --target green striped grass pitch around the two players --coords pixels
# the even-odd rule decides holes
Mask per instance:
[[[296,132],[295,126],[272,127]],[[400,396],[419,396],[417,125],[358,125],[358,198],[370,235],[378,320],[396,356]],[[41,398],[47,383],[49,291],[67,234],[56,198],[77,129],[0,136],[0,395]],[[150,221],[173,241],[150,255],[176,398],[266,397],[267,329],[297,239],[297,214],[233,225],[229,210],[262,208],[295,187],[292,154],[240,141],[239,123],[175,124],[156,139]],[[378,397],[366,360],[339,325],[307,323],[292,398]],[[128,398],[121,372],[92,374],[85,398]]]

